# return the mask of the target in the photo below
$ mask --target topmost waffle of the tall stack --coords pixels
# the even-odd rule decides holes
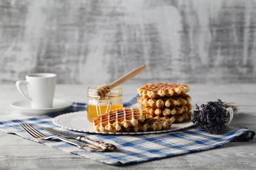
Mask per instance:
[[[183,95],[189,91],[189,87],[186,84],[168,84],[168,83],[148,83],[141,88],[137,89],[137,92],[144,98],[157,98],[157,97],[170,97],[173,95]]]

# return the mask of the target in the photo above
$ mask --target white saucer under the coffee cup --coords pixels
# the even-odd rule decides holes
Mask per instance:
[[[31,108],[29,100],[22,100],[11,104],[13,108],[17,108],[26,115],[47,115],[49,113],[58,112],[68,108],[72,105],[72,102],[63,99],[54,99],[52,108]]]

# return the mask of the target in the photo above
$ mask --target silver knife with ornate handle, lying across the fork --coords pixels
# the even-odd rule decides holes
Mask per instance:
[[[46,130],[47,132],[51,132],[51,133],[54,133],[56,135],[64,136],[64,137],[71,138],[71,139],[76,139],[77,141],[81,141],[81,142],[84,142],[84,143],[87,143],[87,144],[92,144],[92,145],[97,146],[97,147],[99,147],[103,150],[108,150],[108,151],[117,150],[117,147],[115,145],[108,144],[108,143],[105,143],[103,141],[94,141],[94,140],[89,139],[88,137],[85,137],[85,136],[79,136],[79,135],[75,135],[73,133],[65,132],[65,131],[62,131],[62,130],[56,130],[56,129],[53,129],[53,128],[43,128],[43,129]]]

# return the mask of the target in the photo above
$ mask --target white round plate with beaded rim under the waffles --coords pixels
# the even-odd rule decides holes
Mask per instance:
[[[87,111],[79,111],[73,113],[66,113],[54,117],[52,122],[65,129],[79,131],[79,132],[90,132],[90,133],[102,133],[102,134],[148,134],[148,133],[160,133],[160,132],[171,132],[174,130],[180,130],[193,126],[191,121],[182,122],[179,124],[172,124],[170,130],[161,131],[150,131],[150,132],[97,132],[93,129],[92,123],[87,119]]]

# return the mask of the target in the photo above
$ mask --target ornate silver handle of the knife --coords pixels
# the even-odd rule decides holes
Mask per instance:
[[[93,144],[94,146],[97,146],[103,150],[108,150],[108,151],[117,150],[117,147],[113,144],[108,144],[103,141],[94,141],[85,136],[80,136],[80,137],[77,137],[76,139],[85,143]]]

